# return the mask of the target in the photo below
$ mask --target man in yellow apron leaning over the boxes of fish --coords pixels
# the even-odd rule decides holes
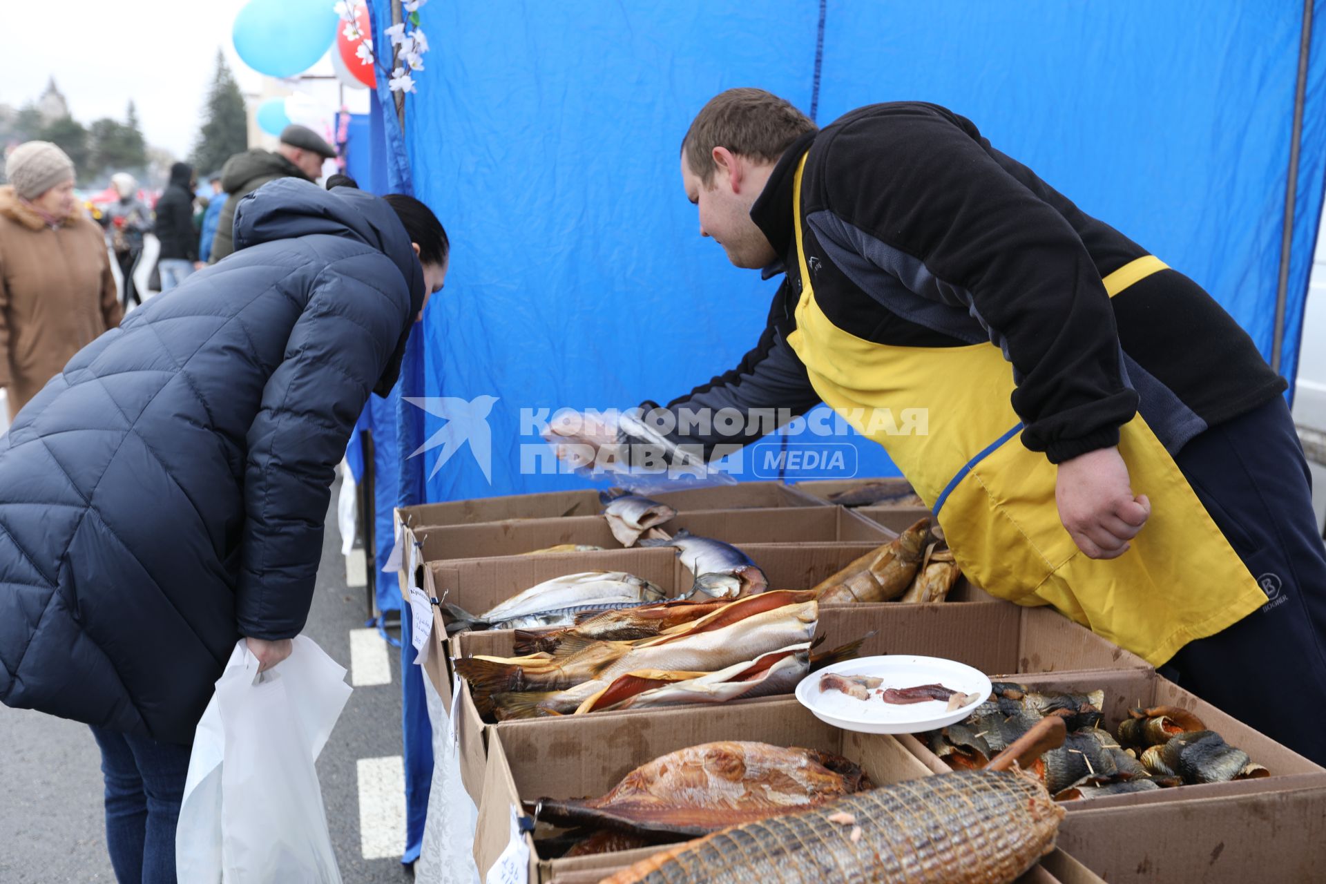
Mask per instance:
[[[729,90],[682,178],[703,236],[786,281],[741,366],[667,411],[827,403],[973,582],[1326,762],[1326,554],[1285,382],[1200,286],[935,105],[819,131]]]

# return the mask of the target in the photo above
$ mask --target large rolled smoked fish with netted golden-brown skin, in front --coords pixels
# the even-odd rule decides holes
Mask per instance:
[[[1025,774],[940,774],[727,828],[601,884],[1001,884],[1054,850],[1063,812]]]

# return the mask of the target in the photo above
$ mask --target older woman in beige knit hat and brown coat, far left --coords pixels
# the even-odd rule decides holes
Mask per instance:
[[[9,420],[69,359],[119,325],[106,240],[74,199],[74,164],[49,142],[5,160],[0,187],[0,387]]]

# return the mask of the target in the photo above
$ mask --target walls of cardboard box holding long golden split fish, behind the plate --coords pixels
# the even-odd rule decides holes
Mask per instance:
[[[1006,602],[943,604],[855,604],[823,606],[817,637],[821,648],[835,648],[865,636],[862,656],[914,653],[957,660],[993,676],[1021,679],[1020,673],[1075,672],[1081,669],[1152,669],[1140,657],[1093,635],[1049,608],[1021,608]],[[465,632],[453,636],[453,657],[488,655],[508,657],[514,652],[511,631]],[[469,685],[451,673],[444,700],[459,687],[460,701],[455,728],[460,742],[460,769],[465,791],[479,801],[489,744],[495,732],[512,726],[534,726],[560,721],[538,718],[485,724],[475,708]],[[772,698],[778,700],[781,698]],[[739,700],[721,708],[768,702],[770,698]],[[692,714],[695,706],[684,706]],[[590,721],[610,716],[648,716],[654,710],[601,712],[578,716]],[[705,716],[709,710],[705,709]],[[703,717],[703,716],[699,716]],[[936,763],[939,759],[935,759]]]

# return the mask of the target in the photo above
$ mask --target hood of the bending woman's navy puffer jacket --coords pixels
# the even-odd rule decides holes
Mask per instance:
[[[325,191],[296,178],[264,184],[235,209],[235,250],[300,236],[342,236],[386,254],[410,292],[410,319],[374,392],[387,395],[400,370],[406,339],[423,309],[423,266],[396,213],[373,193],[350,187]]]

